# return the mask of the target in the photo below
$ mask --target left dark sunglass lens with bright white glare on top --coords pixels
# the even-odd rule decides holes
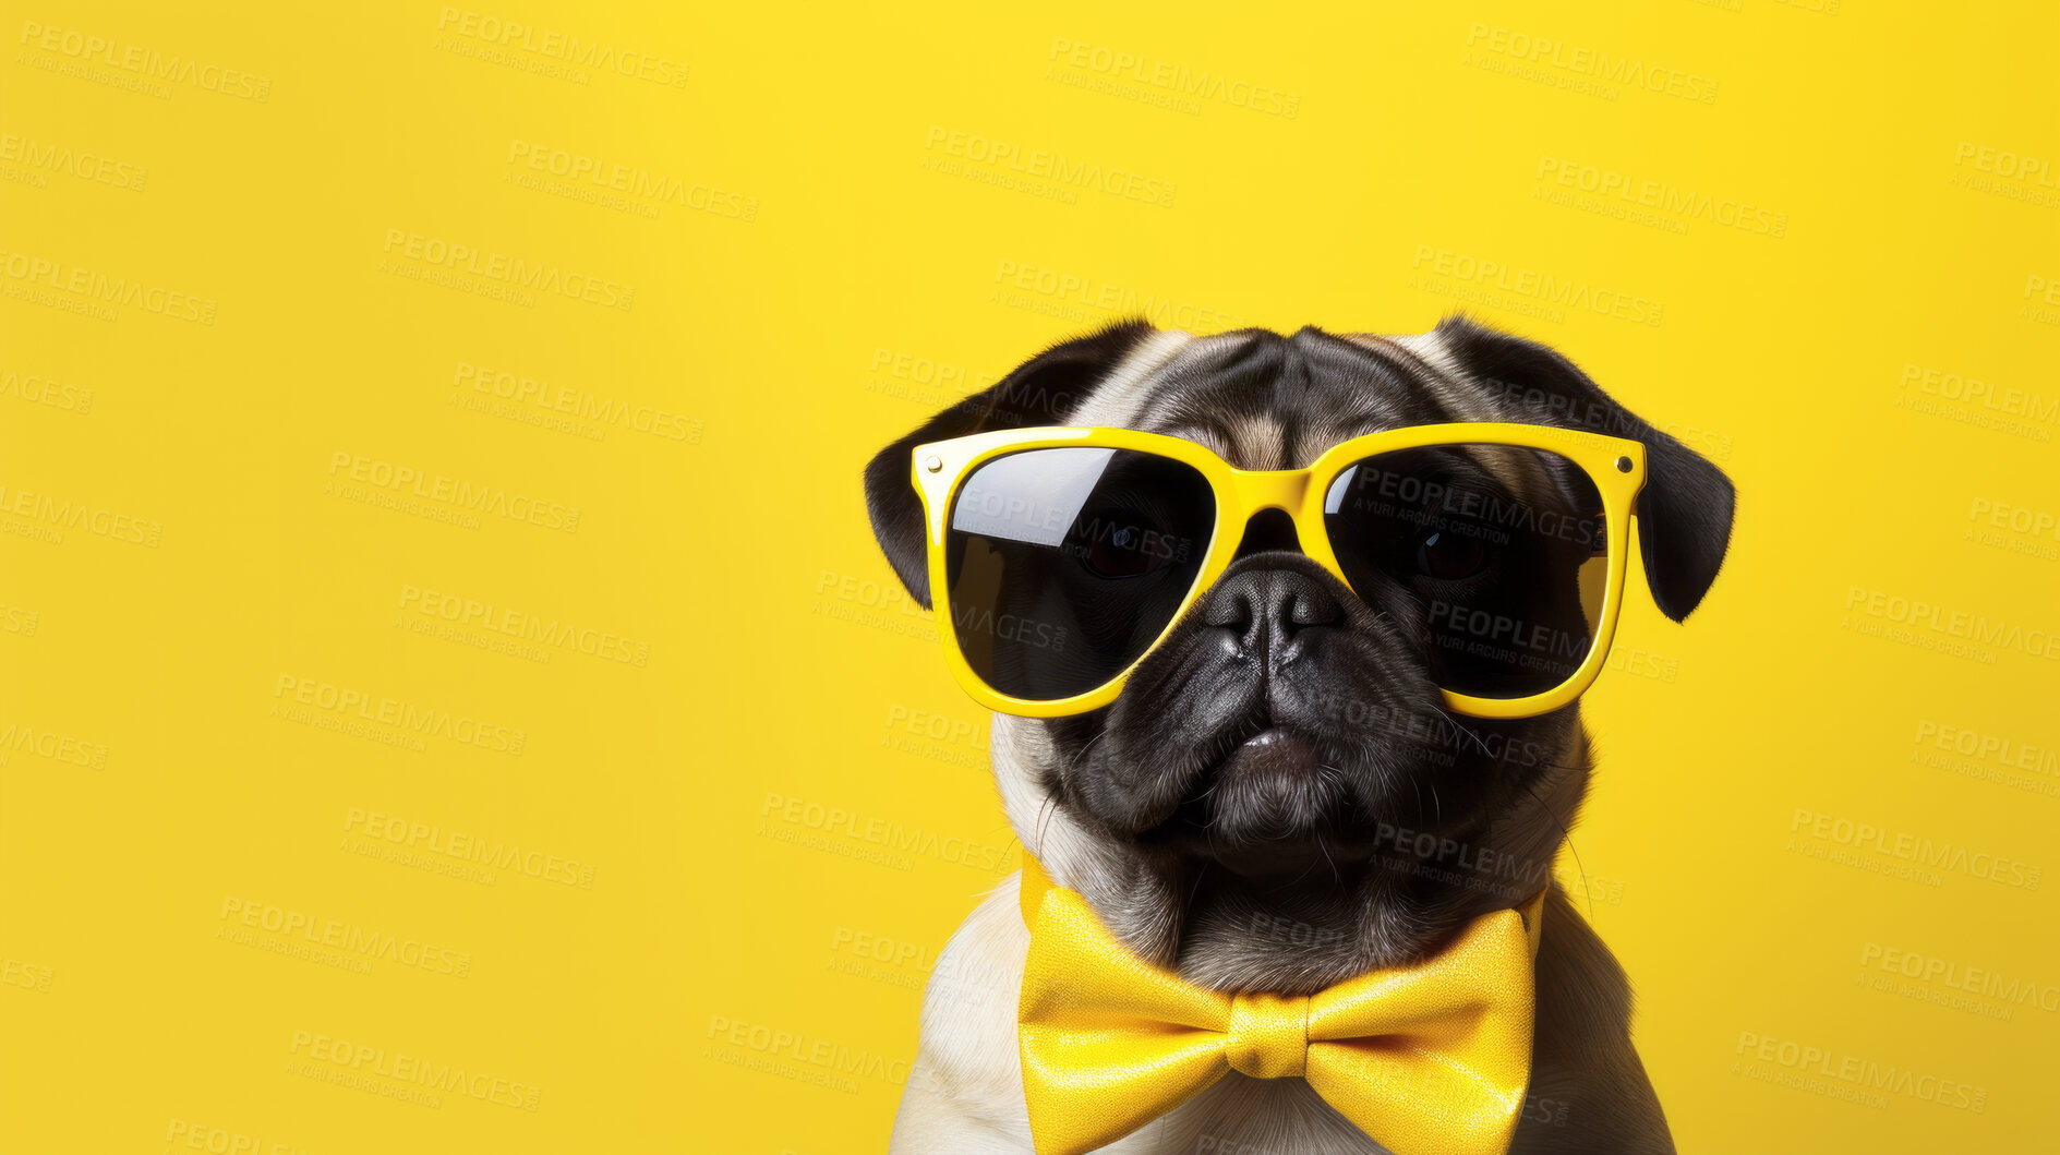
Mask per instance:
[[[1053,702],[1123,673],[1172,622],[1215,527],[1209,482],[1129,449],[1026,449],[958,490],[946,531],[952,630],[1011,698]]]

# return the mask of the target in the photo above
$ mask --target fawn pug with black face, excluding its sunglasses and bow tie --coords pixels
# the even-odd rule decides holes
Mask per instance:
[[[1467,317],[1395,338],[1114,323],[888,445],[865,469],[865,500],[894,572],[929,605],[917,445],[1117,426],[1195,441],[1240,469],[1298,469],[1339,441],[1438,422],[1644,443],[1638,541],[1654,601],[1679,622],[1716,579],[1728,478],[1566,356]],[[1465,544],[1456,550],[1456,562],[1421,564],[1473,564]],[[1671,1153],[1632,1046],[1623,970],[1551,881],[1588,789],[1578,700],[1506,721],[1442,708],[1430,632],[1411,618],[1421,614],[1419,599],[1355,595],[1300,550],[1285,515],[1265,511],[1112,702],[1073,716],[995,714],[1007,819],[1053,885],[1079,891],[1129,951],[1224,992],[1308,994],[1421,959],[1475,916],[1545,889],[1531,1081],[1512,1151]],[[1016,1040],[1030,943],[1018,885],[995,889],[939,955],[896,1153],[1032,1151]],[[1102,1151],[1386,1149],[1302,1079],[1232,1071]]]

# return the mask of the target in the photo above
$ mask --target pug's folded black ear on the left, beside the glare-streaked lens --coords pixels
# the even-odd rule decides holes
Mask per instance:
[[[880,550],[919,603],[929,607],[929,566],[911,451],[931,441],[995,428],[1059,424],[1110,369],[1156,331],[1147,321],[1131,319],[1055,344],[1016,366],[995,387],[943,410],[873,455],[865,465],[865,513],[873,519]]]

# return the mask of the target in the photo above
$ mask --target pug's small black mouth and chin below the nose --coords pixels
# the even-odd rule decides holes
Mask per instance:
[[[1306,733],[1265,723],[1189,784],[1139,842],[1265,879],[1341,869],[1374,852],[1366,799]]]

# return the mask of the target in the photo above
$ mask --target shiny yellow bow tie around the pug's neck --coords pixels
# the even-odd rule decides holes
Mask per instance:
[[[1531,1081],[1539,891],[1438,955],[1310,996],[1222,994],[1133,953],[1024,854],[1016,1042],[1038,1155],[1079,1155],[1226,1071],[1306,1079],[1397,1155],[1502,1155]]]

